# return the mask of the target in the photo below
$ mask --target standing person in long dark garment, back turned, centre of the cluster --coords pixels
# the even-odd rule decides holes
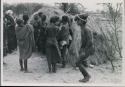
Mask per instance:
[[[48,62],[49,72],[56,73],[56,63],[61,59],[61,53],[58,48],[58,42],[56,39],[59,27],[59,17],[54,16],[50,18],[50,24],[46,30],[46,56]]]

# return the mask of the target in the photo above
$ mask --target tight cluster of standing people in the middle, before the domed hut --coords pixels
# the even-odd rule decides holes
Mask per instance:
[[[46,54],[49,72],[56,72],[56,63],[65,67],[66,52],[72,40],[72,30],[69,28],[69,18],[53,16],[46,23],[46,15],[42,12],[34,15],[31,24],[34,27],[34,38],[38,51]]]

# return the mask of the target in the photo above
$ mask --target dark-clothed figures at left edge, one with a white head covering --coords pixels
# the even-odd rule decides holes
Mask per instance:
[[[3,42],[4,42],[4,56],[7,53],[12,53],[17,48],[17,40],[15,34],[15,21],[13,17],[13,11],[8,10],[4,14],[3,18]]]

